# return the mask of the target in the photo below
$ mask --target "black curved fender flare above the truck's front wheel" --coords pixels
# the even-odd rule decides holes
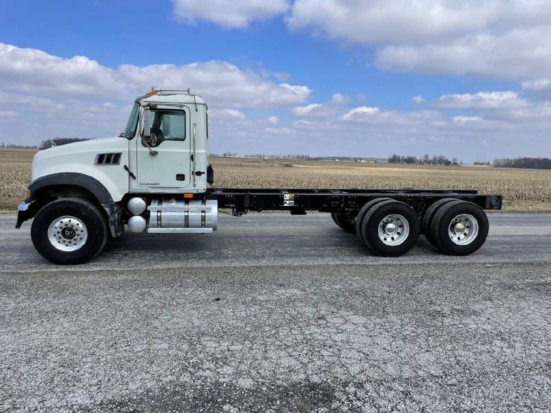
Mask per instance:
[[[25,202],[32,201],[34,199],[34,193],[39,189],[55,185],[74,185],[76,187],[82,187],[93,193],[100,204],[110,204],[113,202],[110,192],[107,191],[107,188],[105,188],[101,182],[96,180],[96,178],[92,178],[92,176],[76,172],[52,173],[51,175],[41,176],[35,179],[29,184],[30,196]]]

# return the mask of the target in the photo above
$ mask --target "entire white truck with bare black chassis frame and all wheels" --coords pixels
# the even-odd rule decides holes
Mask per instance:
[[[399,256],[419,234],[440,251],[467,255],[488,235],[484,209],[501,196],[422,189],[216,189],[208,163],[207,104],[196,94],[160,90],[137,98],[117,138],[39,151],[16,228],[34,218],[32,242],[56,264],[80,264],[109,237],[211,233],[218,209],[331,213],[369,251]]]

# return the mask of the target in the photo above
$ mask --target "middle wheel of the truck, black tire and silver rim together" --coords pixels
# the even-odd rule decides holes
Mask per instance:
[[[362,220],[362,239],[377,255],[404,255],[419,239],[417,213],[404,202],[395,200],[375,204]]]

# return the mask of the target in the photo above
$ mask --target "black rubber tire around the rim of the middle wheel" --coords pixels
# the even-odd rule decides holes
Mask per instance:
[[[402,215],[409,224],[409,236],[402,244],[386,245],[379,237],[379,224],[386,215]],[[362,221],[362,239],[366,246],[377,255],[384,257],[399,257],[410,251],[419,239],[421,224],[417,212],[404,202],[395,200],[375,204],[364,216]]]

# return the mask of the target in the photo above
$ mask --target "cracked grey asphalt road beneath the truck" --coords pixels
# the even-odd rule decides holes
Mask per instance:
[[[222,215],[52,266],[0,217],[0,410],[551,410],[551,215],[366,254],[328,215]]]

